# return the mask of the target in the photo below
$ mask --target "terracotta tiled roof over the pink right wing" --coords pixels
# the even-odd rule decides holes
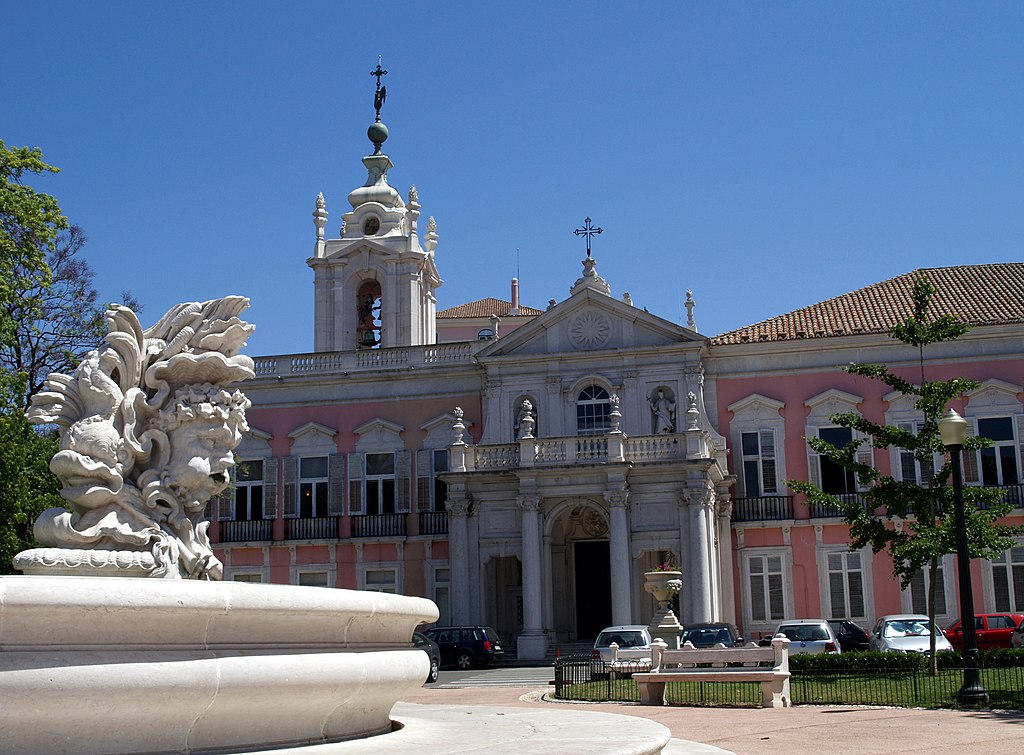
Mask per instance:
[[[935,286],[932,311],[972,325],[1024,323],[1024,262],[923,267],[827,301],[723,333],[713,344],[887,333],[912,311],[913,282]]]

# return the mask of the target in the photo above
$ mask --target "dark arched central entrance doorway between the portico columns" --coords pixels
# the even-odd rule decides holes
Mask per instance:
[[[608,519],[589,500],[566,502],[552,512],[552,619],[559,640],[597,636],[611,624]]]

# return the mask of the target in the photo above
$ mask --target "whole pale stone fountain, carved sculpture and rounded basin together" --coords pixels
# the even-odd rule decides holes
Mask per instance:
[[[204,519],[248,429],[248,300],[123,306],[30,418],[56,424],[71,511],[35,523],[0,578],[0,751],[247,750],[391,730],[427,674],[429,600],[219,582]],[[141,579],[156,578],[156,579]]]

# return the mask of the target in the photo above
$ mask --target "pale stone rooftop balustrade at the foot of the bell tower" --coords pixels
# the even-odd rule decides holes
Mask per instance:
[[[256,379],[287,375],[330,375],[339,372],[401,370],[431,365],[470,364],[474,342],[436,343],[427,346],[367,348],[357,351],[318,351],[312,353],[257,356]]]

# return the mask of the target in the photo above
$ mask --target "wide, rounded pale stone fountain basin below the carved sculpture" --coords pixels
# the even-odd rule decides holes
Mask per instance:
[[[0,578],[0,751],[190,752],[391,730],[427,676],[424,598],[119,577]]]

